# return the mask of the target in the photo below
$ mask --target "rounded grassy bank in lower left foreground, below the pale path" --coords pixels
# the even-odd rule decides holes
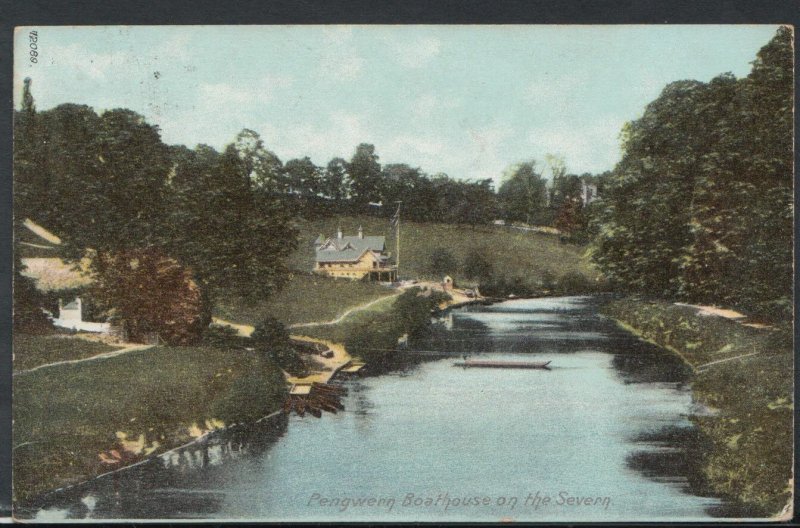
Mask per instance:
[[[131,462],[255,420],[280,408],[286,389],[255,353],[156,347],[15,376],[13,390],[14,499],[26,501],[119,467],[101,453]]]

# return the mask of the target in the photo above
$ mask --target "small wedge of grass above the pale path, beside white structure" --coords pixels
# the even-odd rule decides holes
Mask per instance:
[[[14,370],[28,370],[56,361],[83,359],[118,350],[118,348],[64,334],[15,333],[13,338]]]

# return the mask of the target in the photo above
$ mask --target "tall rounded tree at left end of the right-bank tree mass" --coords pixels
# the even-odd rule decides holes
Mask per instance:
[[[707,127],[720,106],[697,81],[668,85],[628,125],[622,160],[604,194],[594,259],[620,288],[675,296],[691,244],[691,210]]]

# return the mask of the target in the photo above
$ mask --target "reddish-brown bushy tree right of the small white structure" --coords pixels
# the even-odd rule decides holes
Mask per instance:
[[[149,333],[171,345],[199,339],[211,322],[206,297],[191,272],[159,250],[98,253],[92,298],[128,339]]]

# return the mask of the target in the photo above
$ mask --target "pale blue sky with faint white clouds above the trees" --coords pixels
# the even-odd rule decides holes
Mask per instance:
[[[14,97],[129,108],[168,144],[219,150],[243,128],[282,161],[349,159],[499,181],[563,157],[610,170],[619,132],[667,83],[744,77],[773,25],[94,26],[18,28]],[[37,62],[29,32],[37,32]]]

